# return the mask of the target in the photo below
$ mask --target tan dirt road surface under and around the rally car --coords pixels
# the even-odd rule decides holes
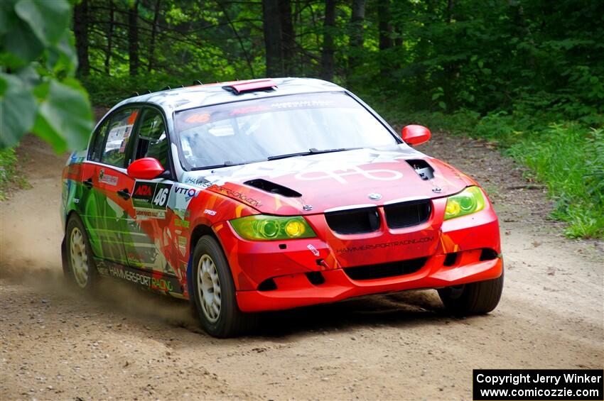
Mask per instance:
[[[602,243],[571,241],[549,202],[488,144],[436,134],[419,148],[473,175],[500,216],[505,287],[483,317],[455,319],[436,291],[365,297],[264,317],[212,339],[188,304],[61,278],[60,169],[34,138],[33,189],[1,207],[0,399],[471,399],[473,368],[603,368]]]

